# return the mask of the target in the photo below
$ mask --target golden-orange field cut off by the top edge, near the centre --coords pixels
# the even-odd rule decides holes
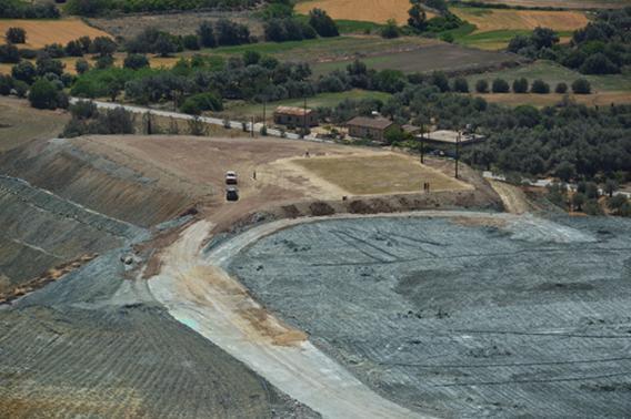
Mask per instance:
[[[375,23],[394,19],[403,24],[408,21],[410,0],[312,0],[296,6],[296,10],[303,14],[314,8],[325,10],[333,19]]]

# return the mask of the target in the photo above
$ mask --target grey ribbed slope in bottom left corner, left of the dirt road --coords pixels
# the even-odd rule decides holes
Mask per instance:
[[[139,256],[122,262],[131,252],[0,310],[1,416],[317,417],[172,318],[133,279]]]

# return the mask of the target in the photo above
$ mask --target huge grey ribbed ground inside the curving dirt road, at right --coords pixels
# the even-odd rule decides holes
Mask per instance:
[[[445,417],[628,417],[631,222],[338,219],[230,270],[402,406]]]

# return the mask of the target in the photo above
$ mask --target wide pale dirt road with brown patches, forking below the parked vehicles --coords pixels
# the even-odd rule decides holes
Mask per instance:
[[[204,257],[201,246],[211,228],[208,221],[187,228],[166,249],[160,274],[149,282],[151,293],[176,319],[323,417],[420,417],[374,394],[316,348],[306,334],[267,313],[223,270],[221,263],[233,252],[278,229],[277,223],[252,229]]]

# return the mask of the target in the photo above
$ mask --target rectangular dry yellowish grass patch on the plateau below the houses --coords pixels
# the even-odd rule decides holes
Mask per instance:
[[[420,192],[429,182],[432,191],[471,188],[414,159],[400,154],[351,155],[294,160],[322,180],[351,195],[375,195]]]

